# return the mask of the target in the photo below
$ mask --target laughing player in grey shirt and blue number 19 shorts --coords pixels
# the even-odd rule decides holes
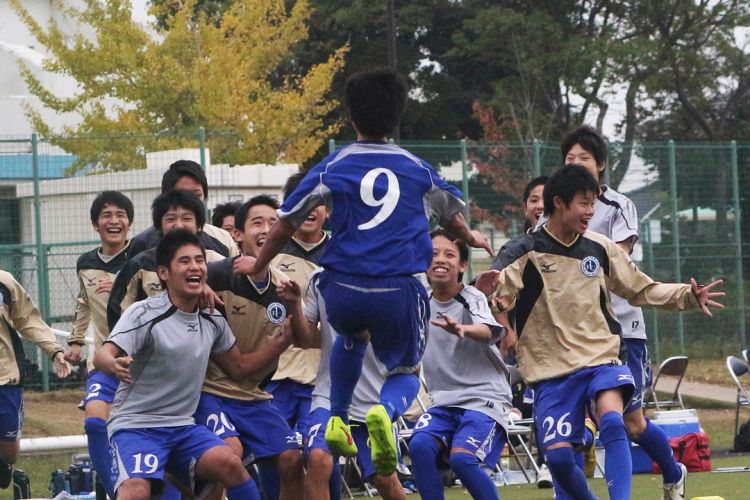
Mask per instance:
[[[239,457],[193,419],[209,357],[236,380],[253,360],[240,354],[219,314],[198,307],[207,274],[198,236],[167,233],[156,262],[165,292],[130,306],[94,360],[120,379],[107,424],[117,498],[156,497],[168,472],[188,485],[219,481],[230,500],[258,500]]]

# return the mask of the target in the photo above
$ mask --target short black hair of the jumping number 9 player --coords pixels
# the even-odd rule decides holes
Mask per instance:
[[[406,106],[406,83],[395,71],[375,68],[346,81],[344,104],[354,126],[369,139],[391,134]]]

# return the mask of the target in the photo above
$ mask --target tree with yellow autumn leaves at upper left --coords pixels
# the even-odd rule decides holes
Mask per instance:
[[[39,110],[26,108],[40,134],[78,156],[74,170],[139,168],[148,150],[194,146],[200,126],[230,132],[231,140],[212,143],[215,161],[302,163],[336,131],[324,118],[338,106],[328,94],[347,48],[305,74],[284,74],[291,48],[308,35],[307,0],[289,9],[284,0],[236,0],[218,21],[196,13],[196,1],[152,4],[160,26],[144,27],[129,0],[85,0],[64,9],[81,27],[68,37],[11,0],[50,54],[44,69],[77,81],[76,95],[60,98],[19,63],[46,108],[80,115],[80,123],[53,131]],[[92,136],[100,140],[80,139]]]

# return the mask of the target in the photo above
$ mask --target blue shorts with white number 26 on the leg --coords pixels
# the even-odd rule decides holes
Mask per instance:
[[[622,391],[627,406],[633,395],[633,375],[625,365],[583,368],[534,386],[534,423],[539,443],[545,449],[555,443],[583,444],[586,408],[607,389]]]

